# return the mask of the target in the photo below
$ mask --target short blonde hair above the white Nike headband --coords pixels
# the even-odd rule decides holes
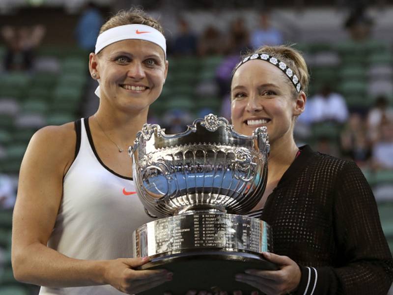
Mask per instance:
[[[100,29],[100,34],[108,29],[118,26],[139,24],[159,30],[164,35],[161,24],[140,8],[132,7],[129,10],[120,10],[112,16]]]

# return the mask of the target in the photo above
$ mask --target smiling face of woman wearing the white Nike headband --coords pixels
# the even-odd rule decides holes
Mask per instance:
[[[154,43],[122,40],[90,54],[89,68],[100,79],[100,103],[147,112],[161,94],[168,62]]]

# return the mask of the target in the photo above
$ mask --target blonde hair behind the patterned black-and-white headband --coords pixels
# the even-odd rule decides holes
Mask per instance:
[[[255,51],[248,52],[243,58],[248,57],[253,54],[267,54],[276,59],[280,59],[285,62],[289,68],[296,74],[299,78],[300,84],[302,85],[302,90],[307,94],[309,88],[309,70],[305,59],[303,58],[300,51],[292,47],[292,45],[279,45],[279,46],[267,46],[264,45],[259,47]],[[240,64],[240,63],[239,63]],[[236,67],[235,67],[236,69]],[[289,80],[288,80],[289,82]],[[292,85],[292,83],[291,83]],[[297,94],[295,91],[294,93]]]

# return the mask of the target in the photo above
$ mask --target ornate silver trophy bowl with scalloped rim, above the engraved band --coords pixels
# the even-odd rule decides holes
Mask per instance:
[[[235,131],[226,118],[209,114],[197,118],[187,125],[187,130],[176,134],[166,134],[158,124],[144,124],[129,154],[134,161],[136,188],[147,214],[164,217],[183,214],[193,210],[194,205],[236,214],[252,209],[266,185],[263,176],[266,175],[269,150],[266,126],[256,128],[252,136],[247,136]],[[142,176],[145,174],[146,178]],[[160,175],[160,189],[154,184],[158,178],[151,178],[152,175]],[[263,185],[257,185],[261,181],[254,177],[261,177]],[[158,194],[146,191],[142,178],[152,179],[149,185],[155,186]],[[232,178],[235,180],[230,180]],[[197,185],[197,179],[203,182],[202,186]],[[208,180],[205,183],[203,179]],[[190,187],[188,181],[195,182],[196,186],[191,184]],[[253,189],[257,185],[258,189],[251,190],[250,185]],[[247,200],[243,194],[247,194]],[[192,201],[183,202],[187,199],[182,197],[185,195]],[[220,203],[222,198],[224,203]],[[245,206],[240,207],[241,203]]]

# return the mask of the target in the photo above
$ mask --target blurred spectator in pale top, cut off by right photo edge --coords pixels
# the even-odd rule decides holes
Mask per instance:
[[[372,167],[393,169],[393,122],[386,121],[380,126],[380,137],[372,148]]]

